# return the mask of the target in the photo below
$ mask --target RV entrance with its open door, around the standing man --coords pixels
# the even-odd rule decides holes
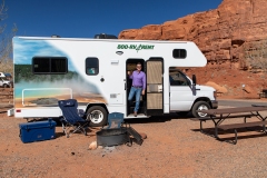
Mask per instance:
[[[157,116],[164,113],[164,59],[150,58],[145,61],[144,59],[128,59],[126,61],[126,75],[128,71],[135,71],[136,65],[142,65],[141,71],[146,73],[147,86],[146,92],[140,97],[140,105],[138,117]],[[127,116],[134,116],[135,97],[134,101],[128,101],[132,80],[127,75],[126,81],[126,100],[127,100]]]

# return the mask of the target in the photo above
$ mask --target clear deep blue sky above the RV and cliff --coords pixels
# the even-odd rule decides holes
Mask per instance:
[[[17,36],[92,38],[218,8],[222,0],[6,0]]]

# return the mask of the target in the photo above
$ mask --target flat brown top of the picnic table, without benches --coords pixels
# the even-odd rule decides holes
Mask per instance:
[[[267,107],[222,108],[222,109],[197,110],[197,112],[202,112],[208,115],[224,115],[224,113],[254,112],[254,111],[264,111],[264,110],[267,110]]]

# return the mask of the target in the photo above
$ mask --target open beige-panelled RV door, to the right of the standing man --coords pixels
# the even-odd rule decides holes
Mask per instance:
[[[164,113],[164,60],[150,58],[146,62],[147,73],[147,106],[146,115]]]

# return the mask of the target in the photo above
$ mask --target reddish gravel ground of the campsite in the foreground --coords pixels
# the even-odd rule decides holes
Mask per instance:
[[[100,128],[91,128],[88,136],[75,134],[66,138],[58,126],[56,139],[22,144],[18,126],[21,122],[26,120],[0,113],[0,177],[266,176],[267,137],[258,131],[239,132],[238,144],[231,145],[200,134],[198,121],[168,115],[130,120],[132,128],[147,134],[141,146],[89,150]],[[205,128],[209,127],[212,123],[207,121]]]

